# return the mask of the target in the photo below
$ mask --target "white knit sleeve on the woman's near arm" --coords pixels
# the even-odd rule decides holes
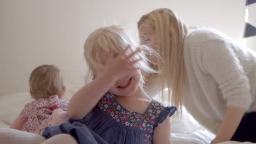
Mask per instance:
[[[227,106],[248,110],[252,101],[249,81],[232,45],[215,39],[200,47],[202,68],[217,81]]]

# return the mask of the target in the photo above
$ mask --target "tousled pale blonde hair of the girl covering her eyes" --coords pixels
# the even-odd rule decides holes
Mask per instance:
[[[98,28],[92,32],[86,39],[84,44],[84,57],[88,64],[88,73],[85,77],[86,82],[90,81],[95,75],[95,68],[104,69],[104,64],[101,60],[101,53],[109,53],[111,51],[121,52],[125,47],[131,47],[132,51],[136,51],[137,45],[130,35],[120,26],[108,26]],[[139,46],[142,52],[137,53],[134,59],[142,58],[142,61],[138,62],[139,68],[142,72],[142,76],[148,73],[154,73],[155,71],[149,67],[148,58],[146,55],[153,52],[146,45]],[[129,51],[132,52],[132,51]],[[144,79],[141,84],[143,85]],[[142,86],[141,85],[141,86]]]

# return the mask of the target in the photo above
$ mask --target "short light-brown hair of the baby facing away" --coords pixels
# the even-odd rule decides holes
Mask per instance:
[[[55,65],[40,65],[34,69],[29,80],[32,98],[48,98],[57,94],[60,98],[65,93],[65,85],[60,69]]]

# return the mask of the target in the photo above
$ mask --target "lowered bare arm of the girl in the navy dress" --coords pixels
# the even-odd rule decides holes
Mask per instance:
[[[154,130],[153,143],[171,144],[171,121],[167,116],[164,122],[158,125]]]

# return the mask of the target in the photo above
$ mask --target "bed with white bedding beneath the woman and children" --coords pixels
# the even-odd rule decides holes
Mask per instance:
[[[72,95],[74,92],[74,89],[67,89],[64,99],[69,99],[70,97],[67,95]],[[9,128],[9,125],[13,123],[25,104],[31,100],[32,98],[28,92],[0,96],[0,128]],[[171,139],[174,144],[205,144],[211,143],[214,138],[214,134],[197,123],[185,109],[179,121],[172,120],[171,127]],[[222,144],[233,143],[237,142]]]

